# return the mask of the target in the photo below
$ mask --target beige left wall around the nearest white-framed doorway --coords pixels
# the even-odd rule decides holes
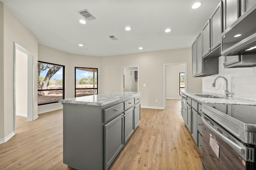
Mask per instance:
[[[1,6],[1,129],[0,139],[14,133],[14,42],[34,55],[34,66],[38,59],[37,38],[0,2]],[[34,73],[37,73],[34,67]],[[34,79],[37,75],[34,74]],[[37,84],[34,82],[34,94]],[[34,96],[34,117],[37,116],[37,95]]]

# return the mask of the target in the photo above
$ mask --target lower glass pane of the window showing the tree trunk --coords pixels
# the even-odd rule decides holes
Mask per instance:
[[[55,103],[63,99],[63,90],[38,91],[38,105]]]

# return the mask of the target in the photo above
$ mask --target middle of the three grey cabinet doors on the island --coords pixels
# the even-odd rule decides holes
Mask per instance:
[[[124,112],[124,144],[129,140],[134,132],[134,109]]]

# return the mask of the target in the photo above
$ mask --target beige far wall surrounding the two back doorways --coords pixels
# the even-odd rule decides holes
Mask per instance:
[[[191,48],[102,57],[102,93],[122,90],[122,67],[139,66],[142,107],[164,108],[164,64],[187,63],[187,91],[202,91],[202,78],[192,77]],[[146,87],[143,86],[146,84]],[[158,99],[156,103],[155,100]]]

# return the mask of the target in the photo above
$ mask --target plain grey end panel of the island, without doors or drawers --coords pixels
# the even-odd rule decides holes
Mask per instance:
[[[63,163],[76,169],[103,169],[102,109],[62,104]]]

